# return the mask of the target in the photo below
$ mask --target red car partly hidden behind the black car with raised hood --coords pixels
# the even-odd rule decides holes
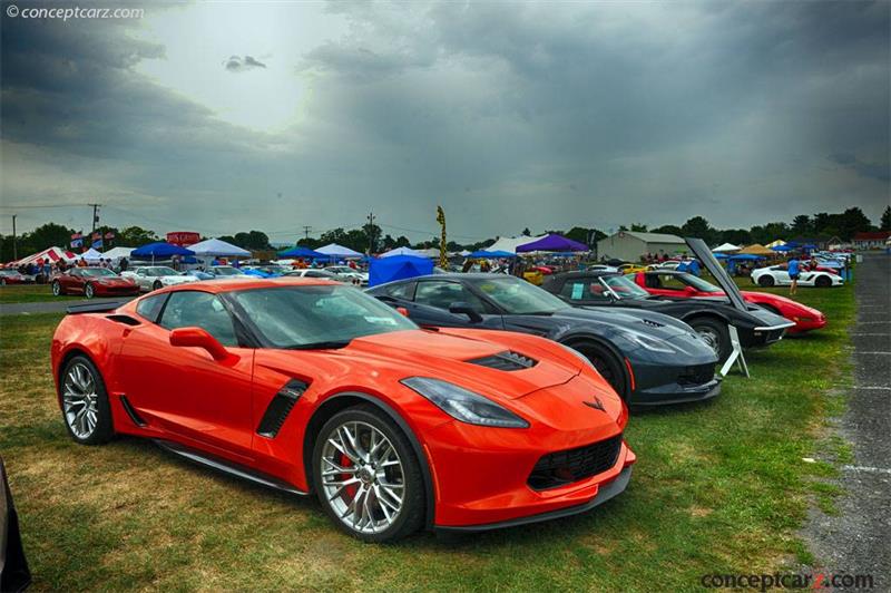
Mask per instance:
[[[656,296],[668,299],[715,298],[726,296],[724,291],[711,282],[674,270],[654,270],[628,274],[635,283]],[[795,323],[786,333],[802,333],[819,330],[826,324],[826,315],[816,309],[803,305],[792,299],[779,294],[756,291],[741,291],[746,302],[772,311]]]

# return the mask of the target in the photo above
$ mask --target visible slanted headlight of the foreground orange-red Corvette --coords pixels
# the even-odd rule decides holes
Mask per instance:
[[[427,377],[410,377],[400,382],[432,401],[456,420],[499,428],[529,428],[529,422],[512,411],[457,385]]]

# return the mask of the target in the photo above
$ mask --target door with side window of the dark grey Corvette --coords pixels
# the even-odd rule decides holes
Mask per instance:
[[[467,313],[450,312],[454,303],[469,304],[482,319],[474,321]],[[503,329],[500,313],[457,280],[419,280],[407,309],[409,318],[422,327]]]

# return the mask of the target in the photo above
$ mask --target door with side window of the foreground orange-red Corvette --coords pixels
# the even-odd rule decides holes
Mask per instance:
[[[159,310],[150,309],[158,302],[153,299],[164,300]],[[239,342],[226,303],[213,293],[177,291],[144,299],[140,315],[143,308],[147,322],[129,331],[120,352],[133,408],[150,427],[251,458],[254,350]],[[217,361],[202,348],[170,346],[170,330],[186,327],[206,330],[232,359]]]

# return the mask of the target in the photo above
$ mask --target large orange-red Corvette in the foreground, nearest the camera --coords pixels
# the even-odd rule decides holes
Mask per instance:
[[[296,494],[365,541],[587,511],[636,458],[586,359],[506,331],[420,330],[320,279],[169,286],[69,309],[52,339],[70,437],[156,439]]]

